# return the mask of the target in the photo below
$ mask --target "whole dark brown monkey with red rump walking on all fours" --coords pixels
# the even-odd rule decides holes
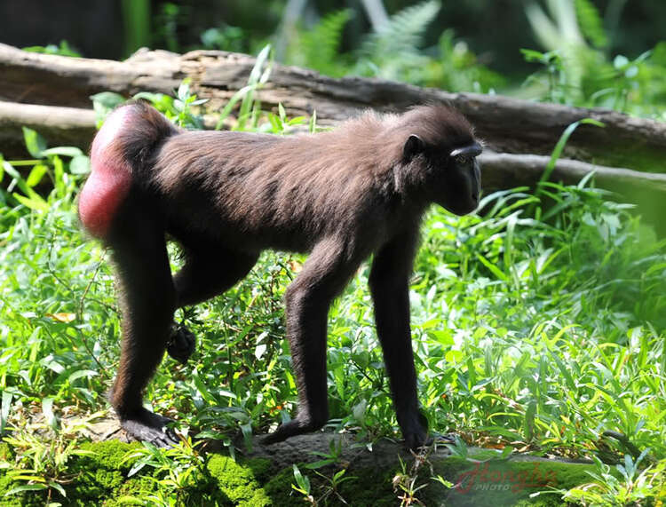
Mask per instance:
[[[442,106],[366,113],[290,137],[180,131],[146,104],[116,109],[92,143],[79,214],[112,248],[122,287],[111,402],[123,428],[169,443],[169,420],[143,408],[142,391],[167,345],[179,360],[192,352],[194,338],[172,324],[175,309],[229,289],[268,248],[310,257],[285,293],[298,412],[266,440],[321,428],[329,305],[374,253],[369,286],[395,411],[408,447],[422,445],[408,277],[427,206],[459,215],[477,207],[480,152],[469,123]],[[173,277],[165,234],[185,250]]]

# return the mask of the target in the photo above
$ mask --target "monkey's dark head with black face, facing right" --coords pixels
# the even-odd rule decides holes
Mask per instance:
[[[481,173],[477,156],[482,147],[463,115],[447,107],[417,107],[408,113],[420,116],[402,149],[418,190],[456,215],[479,206]],[[416,173],[416,174],[415,174]]]

